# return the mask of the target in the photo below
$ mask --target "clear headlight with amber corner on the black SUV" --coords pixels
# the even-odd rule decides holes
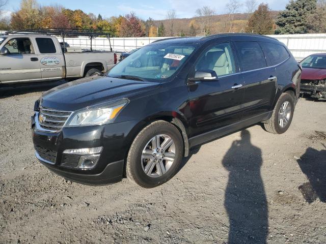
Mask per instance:
[[[111,105],[101,108],[90,108],[77,112],[69,121],[67,126],[93,126],[103,125],[117,117],[118,113],[127,105],[123,100],[118,105]]]

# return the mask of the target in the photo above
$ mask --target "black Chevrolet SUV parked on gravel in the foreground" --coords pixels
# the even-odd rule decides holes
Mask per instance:
[[[300,65],[273,38],[159,40],[104,76],[44,93],[32,117],[35,155],[84,184],[126,175],[156,187],[173,177],[195,145],[260,122],[268,132],[284,133],[300,80]]]

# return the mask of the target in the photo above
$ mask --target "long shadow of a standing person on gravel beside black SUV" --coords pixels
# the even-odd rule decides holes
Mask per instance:
[[[260,175],[260,148],[251,144],[248,130],[241,131],[222,161],[229,171],[225,208],[229,216],[229,240],[234,243],[266,243],[268,206]]]

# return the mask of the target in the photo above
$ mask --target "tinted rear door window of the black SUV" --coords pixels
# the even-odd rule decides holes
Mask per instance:
[[[265,55],[258,42],[235,42],[239,52],[241,71],[267,67]]]

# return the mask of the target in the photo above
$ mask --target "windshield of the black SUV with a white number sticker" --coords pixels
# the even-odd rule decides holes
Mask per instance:
[[[194,45],[145,46],[123,59],[107,76],[164,81],[180,69],[194,50]]]

